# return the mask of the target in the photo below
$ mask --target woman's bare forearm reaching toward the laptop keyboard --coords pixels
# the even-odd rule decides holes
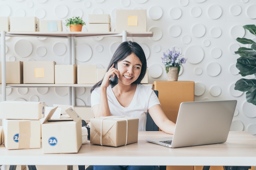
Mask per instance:
[[[157,104],[148,109],[148,113],[152,117],[155,124],[164,132],[173,134],[175,123],[169,120],[165,115],[161,105]]]

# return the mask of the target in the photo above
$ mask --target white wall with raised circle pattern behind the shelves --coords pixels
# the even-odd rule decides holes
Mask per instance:
[[[242,26],[255,24],[254,0],[0,0],[0,16],[65,21],[76,15],[88,22],[88,14],[110,14],[112,31],[116,9],[147,10],[147,28],[154,32],[153,37],[128,40],[141,44],[146,53],[149,83],[167,80],[162,53],[177,46],[188,58],[179,80],[195,82],[195,100],[238,100],[231,129],[256,134],[256,106],[246,102],[244,93],[234,90],[241,78],[235,66],[239,56],[234,51],[242,45],[236,38],[252,38]],[[87,26],[83,31],[88,31]],[[63,27],[63,31],[69,30]],[[106,68],[121,41],[117,37],[76,39],[76,64]],[[20,48],[22,52],[18,52]],[[6,56],[7,61],[65,64],[70,60],[67,39],[63,38],[7,37]],[[68,104],[67,93],[67,87],[8,88],[7,100],[44,101],[52,106]],[[76,88],[76,105],[90,105],[90,88]]]

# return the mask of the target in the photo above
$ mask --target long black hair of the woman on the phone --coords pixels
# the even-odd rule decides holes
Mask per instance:
[[[134,53],[137,57],[139,57],[139,60],[142,63],[141,73],[140,73],[138,79],[135,82],[133,82],[133,83],[136,83],[136,84],[140,84],[141,80],[144,78],[144,76],[146,74],[147,62],[146,62],[145,53],[144,53],[143,49],[141,48],[141,46],[137,42],[131,42],[131,41],[122,42],[117,47],[117,50],[115,51],[112,59],[110,60],[107,71],[113,65],[113,63],[124,60],[131,53]],[[103,78],[97,84],[92,86],[90,92],[92,93],[92,91],[95,88],[101,86],[102,81],[103,81]]]

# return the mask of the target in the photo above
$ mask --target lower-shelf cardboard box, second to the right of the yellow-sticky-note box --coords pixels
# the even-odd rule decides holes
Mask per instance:
[[[77,84],[96,84],[96,65],[77,65]]]

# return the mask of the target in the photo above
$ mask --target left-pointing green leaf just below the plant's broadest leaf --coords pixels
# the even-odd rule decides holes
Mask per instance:
[[[234,89],[238,91],[249,91],[251,88],[256,88],[256,79],[239,79]]]

